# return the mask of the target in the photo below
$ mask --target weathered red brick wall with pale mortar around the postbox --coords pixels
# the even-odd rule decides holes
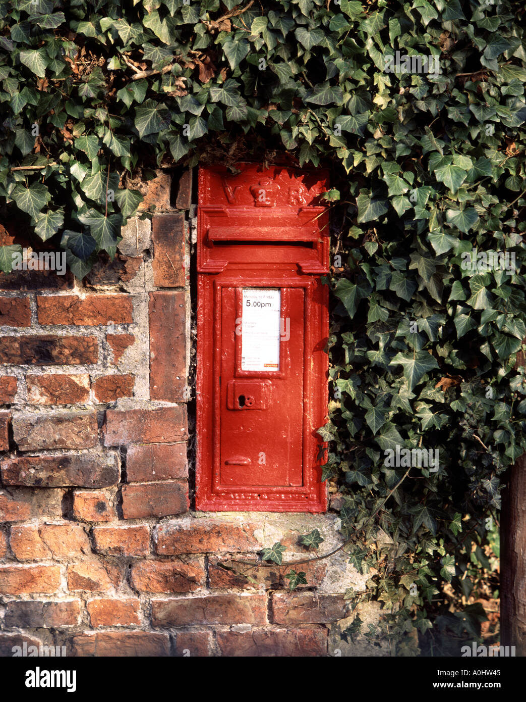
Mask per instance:
[[[24,641],[68,656],[357,651],[337,633],[367,576],[342,552],[299,567],[295,592],[290,569],[255,565],[276,541],[305,557],[314,528],[321,552],[337,547],[335,512],[191,508],[190,173],[176,191],[171,206],[159,171],[151,221],[130,220],[82,283],[0,274],[2,656]]]

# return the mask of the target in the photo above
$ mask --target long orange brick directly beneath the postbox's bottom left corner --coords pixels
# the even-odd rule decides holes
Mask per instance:
[[[156,551],[163,556],[182,553],[259,551],[254,531],[261,524],[233,524],[212,519],[185,519],[156,527]]]

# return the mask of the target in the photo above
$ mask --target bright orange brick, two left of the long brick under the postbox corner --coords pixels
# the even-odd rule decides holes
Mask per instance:
[[[27,524],[11,527],[11,550],[20,560],[67,558],[90,553],[88,535],[76,524]]]

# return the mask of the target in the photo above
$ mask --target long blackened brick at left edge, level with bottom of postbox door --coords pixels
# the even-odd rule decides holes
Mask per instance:
[[[0,463],[6,485],[35,487],[108,487],[119,482],[114,453],[64,453],[62,456],[20,456]]]

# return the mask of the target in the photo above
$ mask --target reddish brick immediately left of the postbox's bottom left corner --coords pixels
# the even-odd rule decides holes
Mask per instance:
[[[124,485],[122,511],[124,519],[169,517],[189,509],[186,483],[163,482]]]

